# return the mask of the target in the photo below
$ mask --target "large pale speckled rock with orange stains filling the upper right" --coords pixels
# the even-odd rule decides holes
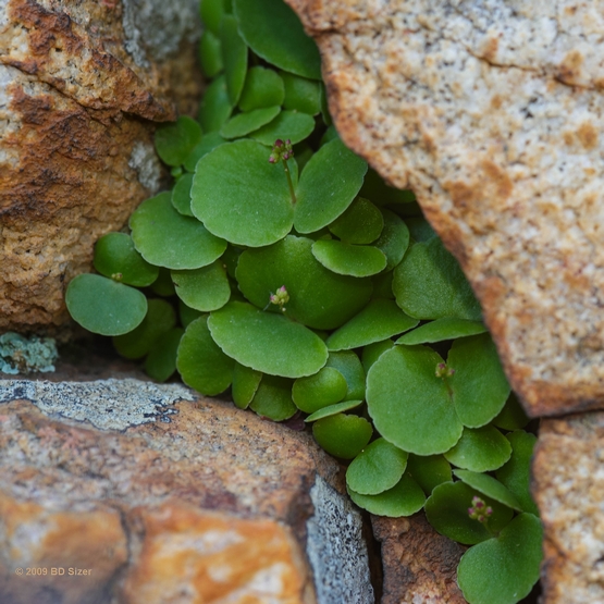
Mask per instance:
[[[530,414],[604,404],[596,0],[287,0],[355,151],[410,186]]]

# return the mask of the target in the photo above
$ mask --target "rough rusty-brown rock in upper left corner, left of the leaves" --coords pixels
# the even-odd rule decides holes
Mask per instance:
[[[190,112],[197,0],[0,0],[0,330],[52,333],[96,239],[155,193]]]

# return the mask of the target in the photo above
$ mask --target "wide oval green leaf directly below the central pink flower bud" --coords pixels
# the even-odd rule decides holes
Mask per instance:
[[[310,330],[249,304],[229,303],[212,312],[208,324],[226,355],[262,373],[301,378],[328,360],[325,345]]]

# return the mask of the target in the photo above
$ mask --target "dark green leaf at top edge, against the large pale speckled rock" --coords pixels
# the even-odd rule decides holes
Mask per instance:
[[[304,77],[321,79],[317,45],[282,0],[234,0],[239,32],[258,57]]]

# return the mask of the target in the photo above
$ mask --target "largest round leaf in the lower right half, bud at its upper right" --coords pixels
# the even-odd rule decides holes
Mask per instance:
[[[403,451],[444,453],[461,436],[446,384],[434,375],[440,362],[424,346],[396,346],[367,374],[367,405],[375,429]]]

